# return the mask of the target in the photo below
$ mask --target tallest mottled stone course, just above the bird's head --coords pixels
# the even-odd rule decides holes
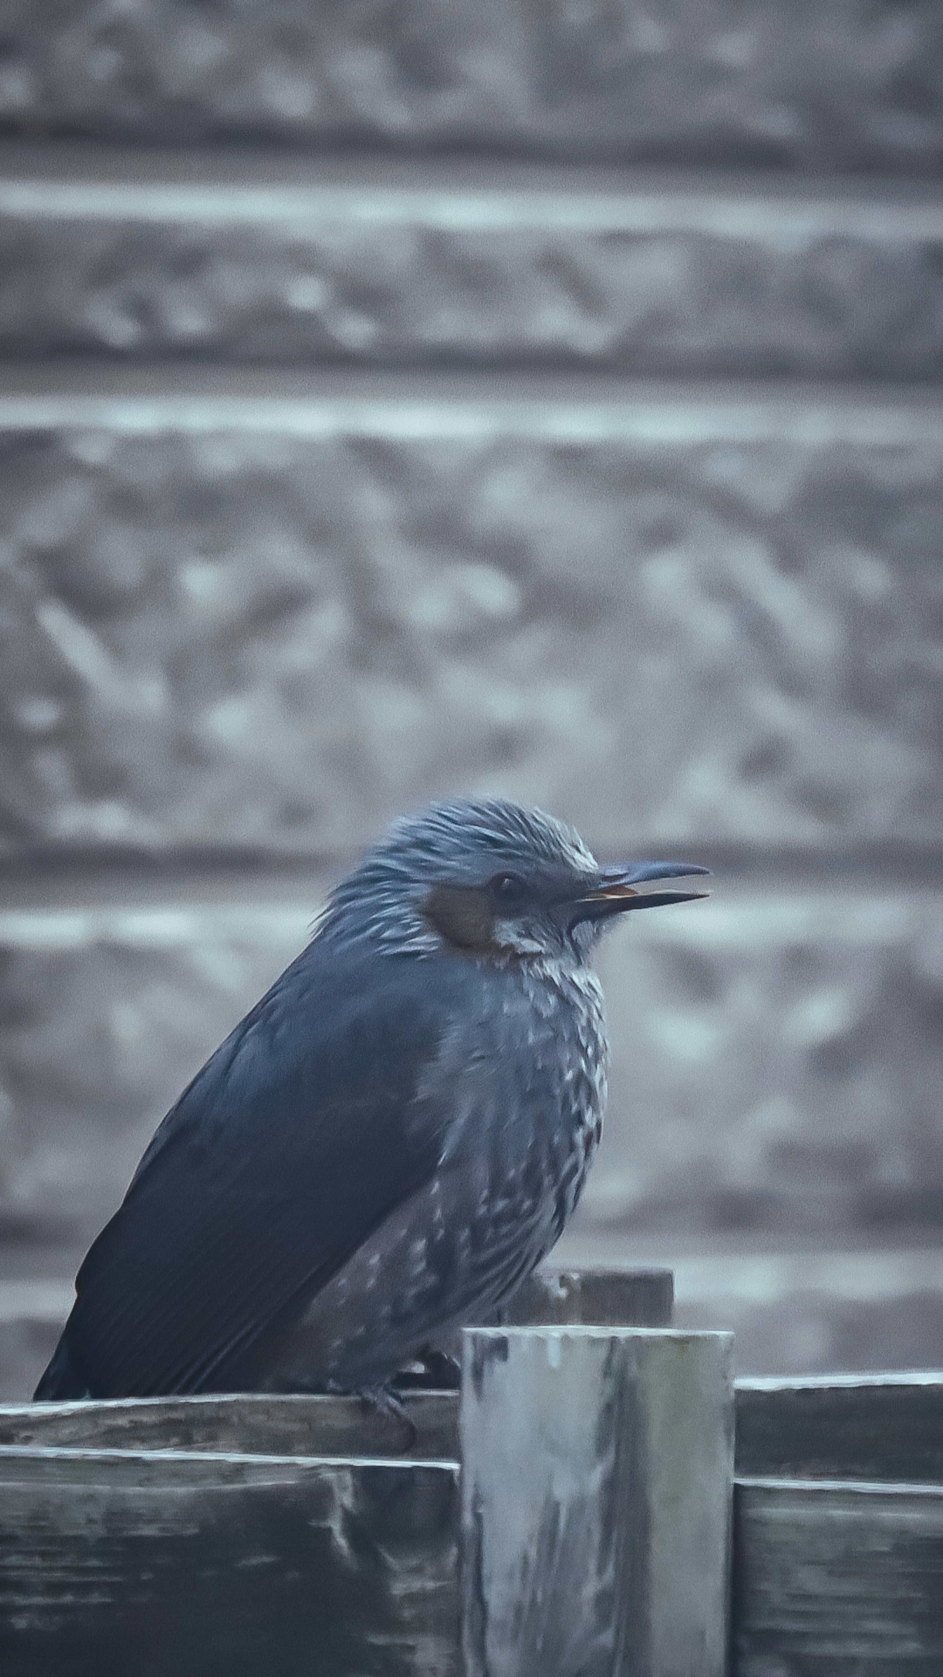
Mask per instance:
[[[450,790],[609,849],[938,840],[930,424],[7,434],[0,505],[7,852],[349,852]]]

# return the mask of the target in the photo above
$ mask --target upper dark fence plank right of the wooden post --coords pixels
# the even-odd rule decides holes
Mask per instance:
[[[738,1380],[737,1474],[943,1484],[943,1373]]]

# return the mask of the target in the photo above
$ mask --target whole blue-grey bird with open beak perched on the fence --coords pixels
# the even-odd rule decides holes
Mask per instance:
[[[35,1397],[388,1389],[560,1236],[599,1142],[587,958],[638,892],[512,803],[398,822],[168,1112]]]

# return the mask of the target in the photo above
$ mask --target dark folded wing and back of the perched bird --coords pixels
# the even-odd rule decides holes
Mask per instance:
[[[91,1248],[65,1328],[94,1395],[252,1385],[270,1337],[436,1169],[411,1119],[450,1006],[319,939],[196,1075]]]

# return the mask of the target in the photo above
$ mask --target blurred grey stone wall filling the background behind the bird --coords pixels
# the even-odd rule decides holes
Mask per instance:
[[[713,896],[602,956],[560,1256],[943,1362],[943,12],[3,7],[0,1395],[403,808]]]

